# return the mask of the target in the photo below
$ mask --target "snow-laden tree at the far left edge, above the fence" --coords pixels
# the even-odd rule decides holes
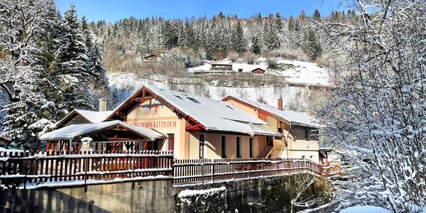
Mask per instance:
[[[38,132],[49,123],[42,114],[50,102],[43,94],[45,70],[37,55],[52,11],[53,1],[0,2],[0,87],[7,97],[1,109],[6,113],[3,134],[26,147],[37,146]]]

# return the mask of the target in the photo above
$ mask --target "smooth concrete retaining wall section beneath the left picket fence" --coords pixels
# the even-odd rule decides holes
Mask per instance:
[[[0,212],[174,212],[170,180],[122,182],[84,187],[3,190]]]

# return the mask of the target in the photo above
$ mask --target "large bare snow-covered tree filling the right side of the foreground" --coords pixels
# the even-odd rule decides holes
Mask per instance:
[[[325,138],[346,148],[355,181],[342,206],[382,205],[393,212],[426,207],[426,3],[358,1],[361,23],[324,29],[342,57],[337,89],[324,108]],[[343,42],[342,42],[343,41]],[[344,56],[344,57],[343,57]]]

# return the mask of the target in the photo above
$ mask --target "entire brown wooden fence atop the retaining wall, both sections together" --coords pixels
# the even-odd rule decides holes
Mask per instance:
[[[271,175],[310,173],[330,177],[339,168],[304,158],[173,160],[171,151],[118,153],[26,152],[0,155],[1,185],[49,185],[170,178],[175,185],[208,183]]]

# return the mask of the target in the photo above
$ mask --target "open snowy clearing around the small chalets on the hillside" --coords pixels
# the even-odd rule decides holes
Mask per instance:
[[[219,64],[231,64],[232,70],[238,71],[242,69],[243,72],[251,72],[256,68],[266,70],[266,74],[269,75],[281,75],[285,77],[286,82],[296,84],[310,84],[310,85],[329,85],[329,72],[327,69],[319,67],[317,64],[312,62],[304,62],[300,60],[286,60],[277,59],[279,70],[268,69],[268,65],[264,58],[258,58],[258,64],[249,65],[242,62],[231,62],[231,60],[220,60],[220,61],[206,61],[204,65],[197,67],[191,67],[187,69],[187,72],[202,72],[209,71],[211,63]]]

